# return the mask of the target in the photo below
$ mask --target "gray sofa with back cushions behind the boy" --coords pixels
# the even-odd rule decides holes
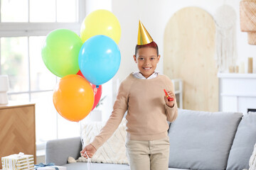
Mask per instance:
[[[256,113],[178,110],[168,135],[169,169],[248,169],[256,143]],[[48,141],[46,163],[87,169],[85,162],[67,164],[68,157],[80,157],[81,149],[80,137]],[[129,165],[92,163],[91,169],[128,170]]]

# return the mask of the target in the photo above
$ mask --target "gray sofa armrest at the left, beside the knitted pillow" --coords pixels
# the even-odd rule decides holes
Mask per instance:
[[[62,140],[50,140],[46,142],[46,164],[52,162],[55,165],[67,164],[68,157],[78,159],[82,144],[80,137]]]

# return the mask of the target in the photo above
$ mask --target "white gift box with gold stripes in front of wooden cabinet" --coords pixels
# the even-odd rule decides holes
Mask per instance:
[[[3,170],[33,170],[34,162],[32,154],[11,154],[1,158]]]

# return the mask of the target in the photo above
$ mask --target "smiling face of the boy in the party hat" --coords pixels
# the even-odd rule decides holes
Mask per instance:
[[[147,79],[154,73],[156,64],[159,63],[160,55],[157,56],[153,47],[142,47],[134,55],[134,62],[138,64],[139,72]]]

